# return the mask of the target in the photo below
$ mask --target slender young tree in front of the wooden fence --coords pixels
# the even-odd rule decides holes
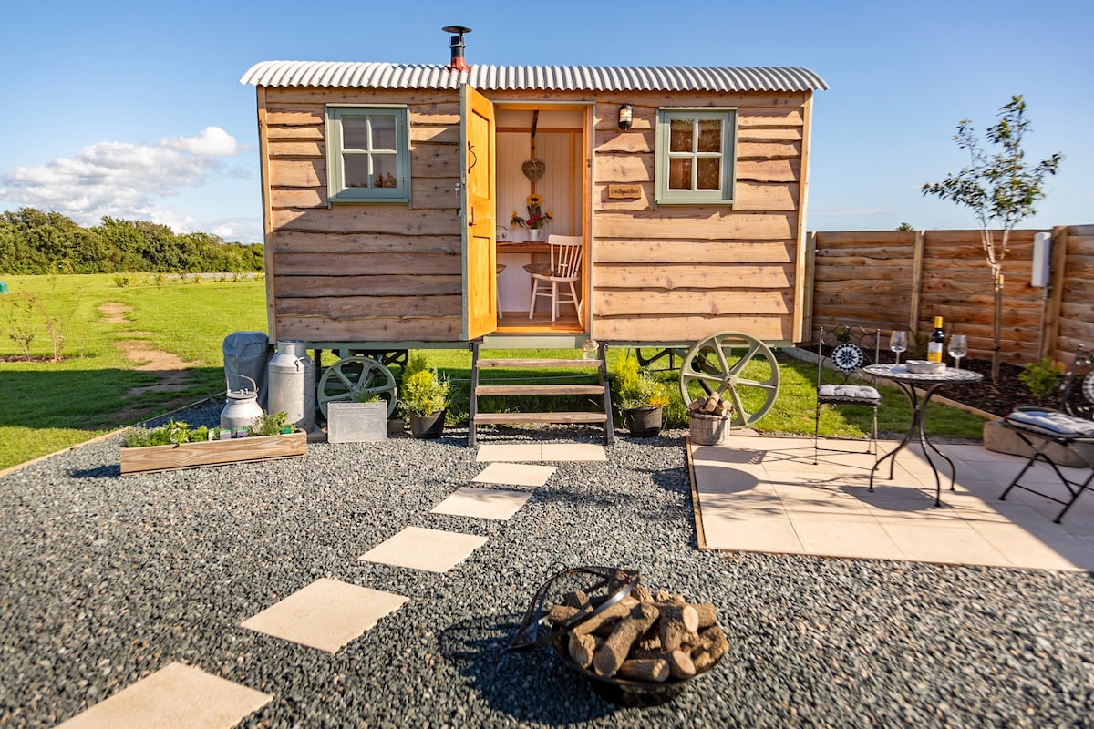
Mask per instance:
[[[1022,138],[1029,131],[1025,117],[1025,102],[1013,96],[999,109],[999,121],[988,128],[987,140],[998,148],[994,154],[980,146],[973,131],[971,121],[957,122],[954,141],[968,150],[971,162],[957,174],[948,175],[941,183],[923,185],[923,195],[934,195],[969,208],[980,221],[980,242],[991,271],[994,311],[991,356],[991,378],[999,379],[999,349],[1003,318],[1003,259],[1006,244],[1014,226],[1037,211],[1034,203],[1045,197],[1041,186],[1045,175],[1055,175],[1063,155],[1046,157],[1029,166],[1023,160]],[[996,239],[991,226],[1000,228]]]

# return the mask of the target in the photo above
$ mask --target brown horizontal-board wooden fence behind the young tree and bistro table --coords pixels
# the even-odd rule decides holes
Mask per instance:
[[[1094,225],[1054,231],[1048,287],[1031,285],[1035,233],[1012,231],[1003,259],[1001,356],[1067,363],[1079,345],[1094,349]],[[818,232],[812,239],[812,338],[819,326],[845,322],[909,329],[924,341],[941,316],[947,334],[968,336],[969,356],[991,357],[991,273],[980,231]]]

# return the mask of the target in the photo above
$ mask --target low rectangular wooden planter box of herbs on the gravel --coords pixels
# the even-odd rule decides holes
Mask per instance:
[[[307,434],[258,435],[231,440],[202,440],[178,446],[121,446],[121,475],[170,471],[177,468],[223,466],[238,461],[290,458],[307,454]]]

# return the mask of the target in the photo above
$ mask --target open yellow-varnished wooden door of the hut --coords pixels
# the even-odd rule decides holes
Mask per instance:
[[[465,340],[498,328],[496,161],[493,104],[464,85],[459,94],[464,228]]]

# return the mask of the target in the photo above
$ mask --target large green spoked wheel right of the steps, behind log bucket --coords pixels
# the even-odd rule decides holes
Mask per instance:
[[[689,404],[717,392],[733,405],[732,427],[747,427],[779,395],[779,363],[767,344],[740,331],[696,342],[680,366],[680,396]]]

